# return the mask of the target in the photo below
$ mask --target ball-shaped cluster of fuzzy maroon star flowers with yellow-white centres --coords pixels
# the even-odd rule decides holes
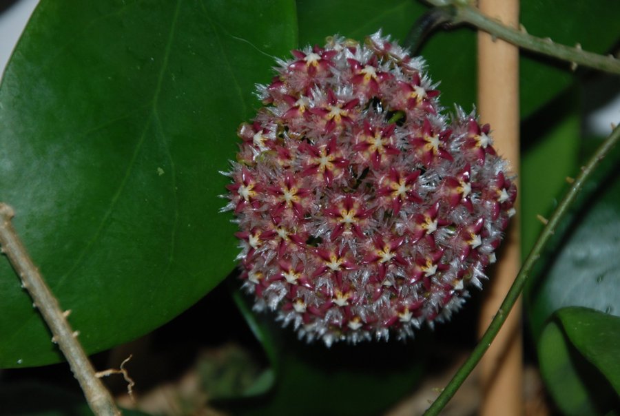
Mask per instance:
[[[442,115],[424,61],[380,33],[293,51],[276,72],[226,173],[256,309],[328,346],[448,318],[515,211],[488,125]]]

